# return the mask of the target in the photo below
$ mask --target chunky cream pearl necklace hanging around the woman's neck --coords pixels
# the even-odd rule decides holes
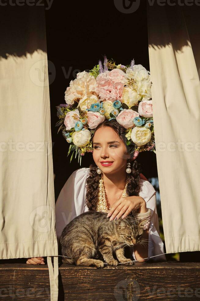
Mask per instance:
[[[122,197],[126,197],[127,196],[127,192],[126,192],[127,185],[128,185],[128,183],[126,181],[125,188],[124,188],[124,190],[121,193]],[[104,187],[104,184],[103,184],[103,178],[101,178],[99,180],[98,187],[99,188],[98,188],[98,205],[97,205],[97,211],[98,212],[108,212],[108,210],[111,207],[109,207],[109,209],[108,209],[107,205],[106,205],[106,191],[105,191],[105,187]],[[118,197],[118,199],[121,197],[121,195]],[[115,202],[117,202],[118,199]],[[110,203],[109,203],[109,205],[110,205]]]

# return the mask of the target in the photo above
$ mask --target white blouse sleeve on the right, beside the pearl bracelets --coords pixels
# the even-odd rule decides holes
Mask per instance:
[[[154,186],[146,180],[140,179],[140,192],[139,196],[143,197],[146,201],[146,208],[150,208],[151,210],[151,220],[150,220],[150,228],[149,228],[149,244],[148,244],[148,260],[154,261],[166,261],[166,256],[160,255],[165,253],[164,244],[160,237],[159,230],[159,221],[157,215],[157,206],[156,206],[156,191]],[[156,256],[150,258],[151,256]],[[133,257],[135,258],[134,248],[133,248]],[[147,261],[148,261],[147,260]]]

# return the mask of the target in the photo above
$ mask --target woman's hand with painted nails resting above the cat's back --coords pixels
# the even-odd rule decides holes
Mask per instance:
[[[132,210],[137,210],[137,213],[146,212],[146,202],[143,197],[120,197],[120,199],[111,206],[107,217],[110,217],[110,221],[113,221],[113,219],[118,220],[121,216],[123,219],[127,217]]]

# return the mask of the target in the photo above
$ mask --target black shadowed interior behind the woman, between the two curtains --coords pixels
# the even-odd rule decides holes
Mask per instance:
[[[105,0],[98,2],[98,6],[91,1],[65,1],[62,6],[54,1],[45,14],[57,200],[70,174],[80,167],[89,167],[93,158],[92,154],[86,153],[81,166],[75,158],[69,163],[69,144],[61,132],[57,134],[58,127],[55,127],[58,121],[56,106],[65,104],[65,90],[70,80],[75,79],[76,73],[93,68],[104,54],[123,65],[130,64],[134,58],[135,64],[141,64],[149,70],[147,14],[145,1],[134,13],[125,14],[117,10],[114,1]],[[157,177],[154,152],[141,153],[138,161],[143,166],[146,178]]]

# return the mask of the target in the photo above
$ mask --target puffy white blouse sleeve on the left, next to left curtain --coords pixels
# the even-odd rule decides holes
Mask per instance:
[[[57,198],[55,216],[58,244],[65,226],[76,216],[88,210],[85,204],[88,173],[89,168],[75,170],[66,181]]]

